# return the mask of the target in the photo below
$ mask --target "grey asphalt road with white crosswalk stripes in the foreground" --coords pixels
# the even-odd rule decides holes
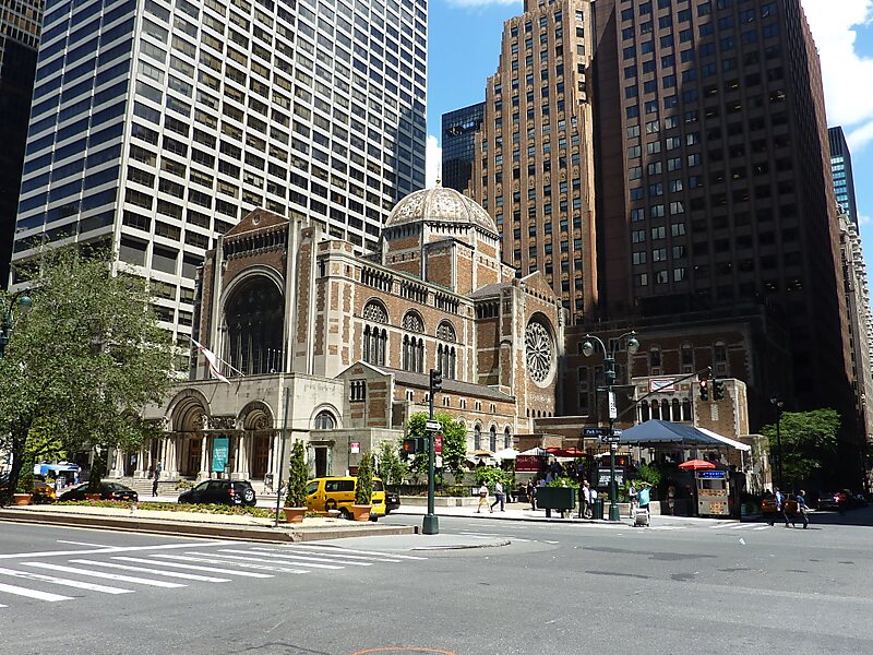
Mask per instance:
[[[873,508],[813,520],[443,517],[512,541],[452,551],[1,523],[0,653],[873,653]]]

